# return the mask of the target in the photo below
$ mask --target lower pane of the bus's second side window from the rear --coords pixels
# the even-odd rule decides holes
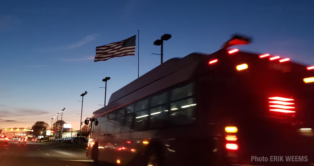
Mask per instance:
[[[163,128],[167,124],[167,105],[150,108],[149,129]]]

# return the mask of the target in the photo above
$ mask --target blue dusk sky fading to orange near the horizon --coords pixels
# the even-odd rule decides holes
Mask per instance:
[[[233,33],[253,37],[241,50],[271,53],[314,65],[314,1],[1,1],[0,128],[63,120],[79,128],[101,108],[104,77],[111,93],[137,78],[137,56],[94,62],[95,47],[140,30],[140,75],[164,60],[213,53]],[[137,55],[137,51],[136,51]],[[108,101],[108,100],[107,100]]]

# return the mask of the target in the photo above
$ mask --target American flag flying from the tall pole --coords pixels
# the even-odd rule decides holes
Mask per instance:
[[[122,40],[120,42],[114,42],[103,46],[96,47],[96,56],[94,62],[106,61],[113,57],[123,57],[127,55],[135,54],[135,39],[136,35]]]

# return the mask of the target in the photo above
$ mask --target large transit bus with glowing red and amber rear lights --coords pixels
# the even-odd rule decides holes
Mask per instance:
[[[243,43],[235,36],[215,53],[169,59],[114,92],[93,112],[86,156],[125,166],[314,165],[314,66],[230,48]]]

